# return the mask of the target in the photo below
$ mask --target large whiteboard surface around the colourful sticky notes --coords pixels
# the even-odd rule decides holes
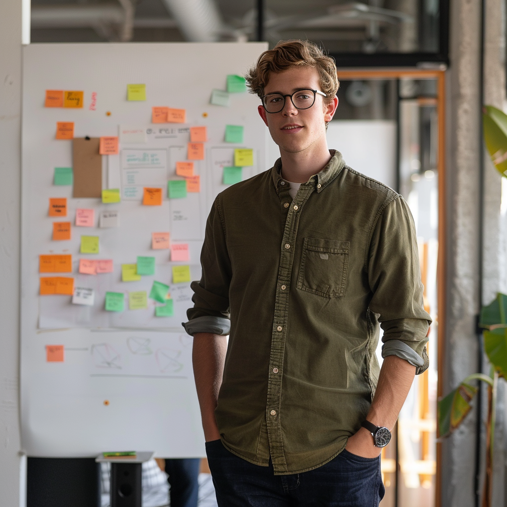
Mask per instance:
[[[199,255],[214,197],[226,188],[223,167],[234,149],[253,150],[246,179],[268,169],[267,129],[259,99],[234,93],[230,106],[209,103],[226,76],[243,75],[267,49],[264,43],[37,44],[23,48],[21,423],[29,456],[94,456],[108,450],[153,450],[161,457],[204,456],[204,436],[192,373],[192,338],[181,327],[192,305],[189,283],[172,283],[172,267],[188,265],[200,278]],[[146,84],[146,101],[128,101],[127,84]],[[83,108],[44,107],[46,90],[82,90]],[[152,106],[186,110],[185,124],[152,124]],[[56,122],[74,122],[75,137],[118,136],[121,128],[143,133],[120,142],[118,155],[102,156],[102,188],[122,200],[73,198],[71,186],[53,185],[55,167],[71,167],[72,141],[55,139]],[[224,142],[226,125],[242,125],[241,144]],[[204,160],[195,161],[200,193],[143,206],[142,188],[164,188],[185,161],[189,127],[206,126]],[[146,138],[146,142],[144,141]],[[130,139],[132,140],[132,139]],[[141,151],[155,165],[138,167]],[[140,158],[139,158],[140,157]],[[142,165],[142,164],[141,164]],[[50,198],[67,198],[65,219],[48,216]],[[94,209],[93,227],[76,227],[76,209]],[[119,212],[119,225],[98,227],[103,210]],[[53,241],[52,223],[68,221],[71,239]],[[151,249],[152,232],[189,245],[188,262],[172,262],[169,250]],[[99,253],[80,253],[81,235],[99,236]],[[39,256],[71,254],[75,286],[94,289],[93,306],[73,305],[64,295],[40,296]],[[155,275],[121,281],[121,265],[137,256],[156,258]],[[111,273],[78,273],[79,260],[112,259]],[[44,275],[42,275],[44,276]],[[46,274],[46,276],[53,276]],[[147,291],[153,281],[170,286],[174,316],[148,308],[106,312],[106,291]],[[63,345],[64,360],[48,362],[47,345]]]

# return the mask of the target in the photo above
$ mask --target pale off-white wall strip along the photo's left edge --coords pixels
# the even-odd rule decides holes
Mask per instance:
[[[0,5],[0,503],[20,504],[21,0]]]

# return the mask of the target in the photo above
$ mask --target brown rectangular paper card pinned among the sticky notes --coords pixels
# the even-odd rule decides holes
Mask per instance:
[[[99,155],[100,138],[76,137],[73,140],[73,197],[102,198],[102,155]]]

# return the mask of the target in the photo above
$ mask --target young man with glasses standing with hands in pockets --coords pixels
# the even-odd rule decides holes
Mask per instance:
[[[400,195],[328,149],[331,58],[280,43],[247,80],[280,159],[216,198],[184,324],[216,498],[377,505],[381,447],[427,368],[413,220]]]

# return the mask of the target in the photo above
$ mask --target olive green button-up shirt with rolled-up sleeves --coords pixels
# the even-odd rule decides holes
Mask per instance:
[[[333,153],[333,152],[332,152]],[[339,152],[294,198],[281,162],[215,200],[190,334],[230,337],[222,442],[276,475],[339,454],[369,411],[383,355],[427,368],[416,233],[403,198]]]

